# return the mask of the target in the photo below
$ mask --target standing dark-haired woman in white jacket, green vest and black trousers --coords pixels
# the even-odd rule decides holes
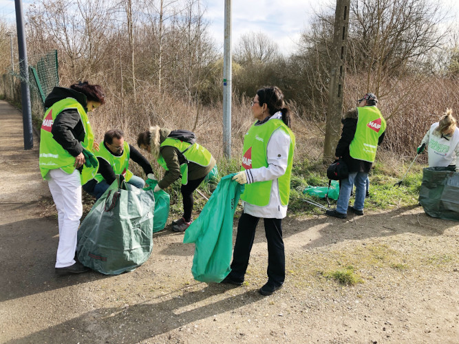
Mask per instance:
[[[248,266],[255,228],[261,217],[268,241],[268,282],[259,289],[273,294],[285,279],[282,219],[286,217],[290,195],[295,135],[290,130],[290,111],[278,87],[259,89],[252,101],[257,120],[244,138],[242,171],[233,179],[246,184],[241,200],[244,213],[237,224],[236,243],[230,274],[222,283],[240,286]]]

